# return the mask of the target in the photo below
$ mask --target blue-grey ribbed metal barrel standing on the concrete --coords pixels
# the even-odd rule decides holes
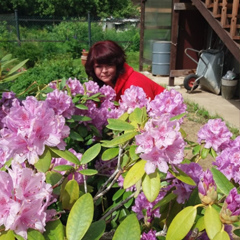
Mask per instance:
[[[152,49],[152,74],[169,75],[171,42],[155,41]]]

